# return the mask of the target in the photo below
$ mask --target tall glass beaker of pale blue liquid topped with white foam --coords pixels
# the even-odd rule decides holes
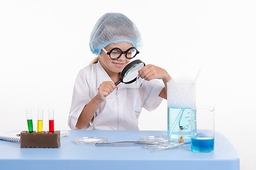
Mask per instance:
[[[178,140],[179,128],[184,139],[191,139],[191,108],[196,107],[196,84],[192,80],[171,80],[167,83],[167,136]]]

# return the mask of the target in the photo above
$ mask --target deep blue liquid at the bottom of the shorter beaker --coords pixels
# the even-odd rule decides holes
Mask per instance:
[[[191,150],[193,152],[210,152],[214,149],[213,137],[193,137],[191,138]]]

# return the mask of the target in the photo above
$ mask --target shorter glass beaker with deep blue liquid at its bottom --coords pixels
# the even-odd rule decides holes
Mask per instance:
[[[214,107],[191,109],[191,151],[211,152],[214,149]]]

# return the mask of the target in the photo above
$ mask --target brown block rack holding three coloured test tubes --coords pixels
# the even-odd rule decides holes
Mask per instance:
[[[21,148],[58,148],[60,147],[60,131],[54,132],[21,132]]]

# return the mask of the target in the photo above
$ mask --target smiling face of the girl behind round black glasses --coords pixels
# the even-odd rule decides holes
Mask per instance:
[[[122,51],[126,51],[133,46],[128,42],[119,42],[117,44],[111,43],[110,45],[107,45],[105,47],[105,50],[107,50],[107,52],[110,52],[110,50],[112,50],[114,47],[118,47]],[[129,62],[130,59],[127,59],[127,57],[125,57],[125,54],[122,54],[121,57],[119,57],[119,59],[117,60],[112,60],[110,58],[110,55],[107,55],[103,51],[100,52],[100,64],[102,64],[102,67],[109,75],[119,74],[122,69],[124,69],[124,67],[129,64]]]

